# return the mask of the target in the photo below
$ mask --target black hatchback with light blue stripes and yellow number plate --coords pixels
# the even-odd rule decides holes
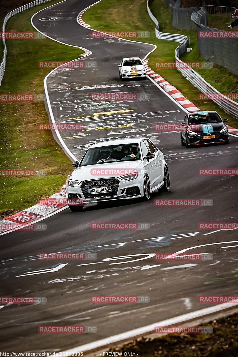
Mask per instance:
[[[228,128],[216,111],[199,111],[186,115],[181,124],[181,145],[228,144]]]

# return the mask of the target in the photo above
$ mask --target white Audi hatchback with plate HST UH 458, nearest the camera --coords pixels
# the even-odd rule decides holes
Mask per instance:
[[[71,211],[105,201],[149,200],[151,192],[169,190],[163,153],[147,137],[94,144],[72,166],[76,170],[66,183]]]

